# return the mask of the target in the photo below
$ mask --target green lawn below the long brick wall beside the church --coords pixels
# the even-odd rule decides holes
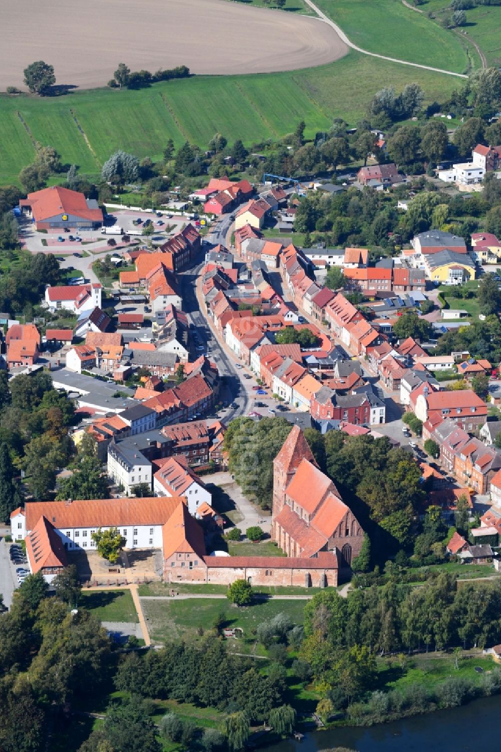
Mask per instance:
[[[281,612],[286,613],[295,624],[302,624],[305,602],[302,600],[257,601],[253,605],[237,608],[226,599],[172,599],[169,601],[141,601],[144,617],[148,623],[150,637],[156,642],[183,639],[202,641],[196,630],[204,632],[212,629],[218,614],[226,614],[226,626],[239,626],[244,630],[244,638],[229,640],[228,647],[237,652],[253,650],[255,638],[251,630],[266,619]],[[263,651],[258,650],[260,654]]]

